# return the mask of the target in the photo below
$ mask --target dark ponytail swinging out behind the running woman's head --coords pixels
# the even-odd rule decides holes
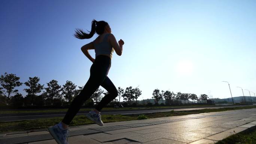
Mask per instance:
[[[77,39],[90,39],[96,32],[96,23],[97,23],[97,21],[94,19],[92,21],[91,32],[88,31],[88,32],[90,32],[89,34],[86,34],[85,32],[83,32],[82,29],[76,29],[74,37],[76,37]]]

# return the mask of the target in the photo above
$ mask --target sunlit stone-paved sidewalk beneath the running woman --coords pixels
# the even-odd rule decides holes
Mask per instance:
[[[256,127],[256,108],[164,117],[147,120],[83,125],[70,128],[70,144],[214,144],[232,134]],[[88,135],[84,135],[88,132]],[[94,133],[94,134],[92,134]],[[48,135],[48,131],[0,135],[0,142],[11,138]],[[49,136],[49,135],[48,135]],[[18,138],[18,139],[17,139]],[[51,138],[48,138],[51,139]],[[28,144],[57,144],[54,140]]]

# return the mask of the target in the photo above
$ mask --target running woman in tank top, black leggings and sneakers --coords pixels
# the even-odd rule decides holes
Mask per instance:
[[[115,50],[116,54],[122,55],[124,41],[120,39],[116,41],[115,36],[111,33],[109,24],[105,21],[92,21],[92,28],[89,34],[83,32],[83,30],[76,30],[74,37],[78,39],[90,39],[95,33],[99,36],[93,41],[84,46],[81,50],[85,56],[93,62],[90,69],[90,77],[88,82],[83,87],[79,95],[77,95],[71,102],[67,113],[65,114],[62,122],[55,126],[48,128],[50,134],[54,137],[58,144],[68,144],[68,125],[79,111],[82,104],[91,97],[91,95],[97,90],[99,86],[106,89],[109,94],[104,96],[97,107],[90,111],[86,117],[100,126],[103,126],[101,121],[100,111],[109,102],[116,98],[118,95],[115,85],[111,82],[107,74],[111,66],[112,53]],[[95,59],[89,54],[89,49],[95,49]]]

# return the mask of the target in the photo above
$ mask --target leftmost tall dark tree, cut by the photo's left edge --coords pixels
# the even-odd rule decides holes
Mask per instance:
[[[16,74],[12,74],[12,73],[11,74],[4,73],[4,76],[1,75],[0,83],[1,83],[1,86],[3,87],[1,88],[1,93],[6,97],[4,102],[6,105],[8,105],[11,94],[13,93],[18,94],[18,90],[17,89],[13,90],[13,89],[17,86],[21,86],[22,83],[19,82],[19,77],[17,77]]]

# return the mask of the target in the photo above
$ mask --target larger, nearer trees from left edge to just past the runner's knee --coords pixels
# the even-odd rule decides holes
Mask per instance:
[[[1,75],[0,84],[2,87],[0,87],[0,100],[4,101],[6,105],[12,102],[10,101],[11,97],[14,99],[14,101],[21,101],[22,95],[19,94],[17,89],[15,89],[16,87],[23,84],[19,82],[19,79],[20,78],[15,74],[4,73],[4,75]],[[29,80],[24,82],[25,86],[28,87],[24,89],[24,91],[27,92],[27,97],[29,97],[27,99],[30,100],[31,105],[33,105],[35,99],[38,96],[45,100],[50,100],[51,104],[54,103],[54,99],[59,99],[62,103],[66,101],[68,104],[70,104],[73,98],[77,96],[83,89],[83,87],[80,86],[78,86],[79,89],[76,89],[77,86],[68,80],[62,87],[58,84],[57,80],[51,80],[49,83],[46,83],[47,87],[44,88],[44,85],[41,85],[39,80],[39,77],[29,77]],[[103,98],[103,95],[106,94],[108,94],[107,91],[98,88],[91,96],[91,98],[94,99],[96,104],[98,104],[98,102]],[[141,91],[138,88],[133,89],[132,86],[126,88],[125,91],[119,87],[118,95],[119,102],[121,97],[123,97],[125,100],[128,100],[128,102],[136,99],[137,103],[137,99],[141,95]],[[118,101],[118,99],[114,99],[113,101]]]

